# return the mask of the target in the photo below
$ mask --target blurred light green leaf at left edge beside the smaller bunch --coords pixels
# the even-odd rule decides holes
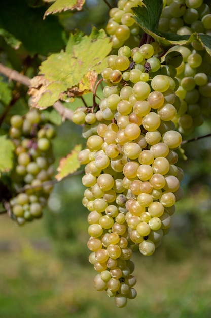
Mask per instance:
[[[8,172],[13,167],[13,151],[15,149],[6,135],[0,136],[0,172]]]

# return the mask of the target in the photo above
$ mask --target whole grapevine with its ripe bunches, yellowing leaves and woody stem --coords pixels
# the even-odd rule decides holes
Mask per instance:
[[[203,0],[105,3],[105,30],[76,31],[60,53],[30,52],[32,79],[28,65],[24,74],[0,65],[0,151],[8,148],[0,187],[5,211],[23,225],[42,216],[54,182],[83,166],[94,287],[124,307],[137,295],[133,250],[155,252],[183,197],[182,145],[210,136],[187,137],[211,112],[211,14]],[[44,17],[82,9],[57,5]],[[28,96],[21,85],[29,87]],[[29,108],[12,114],[23,96]],[[85,139],[83,149],[76,145],[61,158],[54,180],[55,120],[43,113],[51,106],[61,122],[81,125]]]

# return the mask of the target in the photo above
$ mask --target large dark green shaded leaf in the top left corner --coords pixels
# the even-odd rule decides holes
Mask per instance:
[[[64,46],[63,28],[57,17],[49,16],[45,21],[45,7],[31,8],[25,0],[1,2],[1,28],[22,42],[31,54],[48,55]]]

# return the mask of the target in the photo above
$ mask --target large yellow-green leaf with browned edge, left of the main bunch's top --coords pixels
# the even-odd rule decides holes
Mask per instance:
[[[89,36],[80,31],[71,35],[66,51],[50,55],[40,66],[42,75],[31,80],[32,105],[47,108],[58,99],[93,92],[111,47],[104,30],[94,28]]]

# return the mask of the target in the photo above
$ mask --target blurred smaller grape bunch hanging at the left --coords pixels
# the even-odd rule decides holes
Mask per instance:
[[[11,173],[12,219],[23,225],[42,216],[53,188],[54,161],[51,139],[55,128],[36,109],[13,115],[9,136],[15,145],[15,169]]]

